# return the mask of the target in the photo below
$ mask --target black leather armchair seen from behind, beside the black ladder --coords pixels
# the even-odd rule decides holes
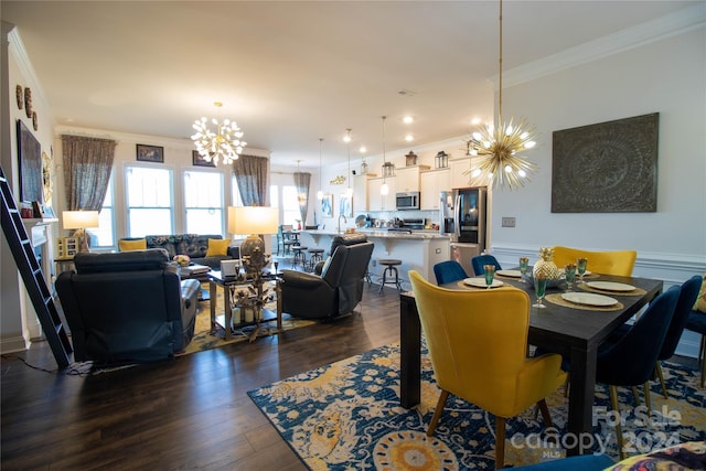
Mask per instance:
[[[148,362],[191,342],[201,286],[182,281],[165,250],[79,253],[74,264],[55,286],[76,361]]]

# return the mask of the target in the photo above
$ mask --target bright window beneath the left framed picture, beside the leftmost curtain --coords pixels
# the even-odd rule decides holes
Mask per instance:
[[[128,167],[125,186],[129,237],[173,233],[171,170]]]

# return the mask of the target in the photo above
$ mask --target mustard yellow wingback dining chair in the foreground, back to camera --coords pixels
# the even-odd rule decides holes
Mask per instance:
[[[441,395],[431,436],[449,393],[495,416],[495,469],[503,467],[505,420],[534,404],[552,425],[544,400],[566,381],[561,357],[525,356],[530,297],[518,289],[451,290],[409,271],[421,328]]]

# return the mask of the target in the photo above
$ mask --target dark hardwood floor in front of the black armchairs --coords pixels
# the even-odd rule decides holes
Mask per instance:
[[[55,371],[44,342],[3,355],[0,468],[306,470],[246,392],[398,341],[398,291],[377,290],[335,322],[98,375]]]

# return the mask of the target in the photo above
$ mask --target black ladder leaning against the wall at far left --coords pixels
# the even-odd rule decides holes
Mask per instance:
[[[34,255],[32,242],[26,234],[20,211],[1,165],[0,186],[2,188],[2,231],[12,250],[22,281],[24,281],[24,287],[32,300],[32,306],[36,311],[36,317],[40,319],[46,341],[52,347],[56,364],[60,368],[65,368],[71,363],[69,354],[73,349],[56,311],[54,298],[46,287],[44,274]]]

